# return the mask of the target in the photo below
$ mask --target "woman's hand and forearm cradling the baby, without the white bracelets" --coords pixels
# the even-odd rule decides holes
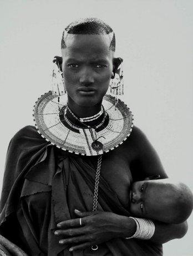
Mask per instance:
[[[73,244],[72,250],[85,249],[114,238],[125,239],[136,232],[135,221],[126,216],[103,211],[83,213],[75,210],[75,214],[79,218],[62,221],[55,231],[55,235],[60,236],[59,243]],[[183,237],[186,231],[186,222],[181,224],[156,222],[155,233],[149,240],[162,244]]]

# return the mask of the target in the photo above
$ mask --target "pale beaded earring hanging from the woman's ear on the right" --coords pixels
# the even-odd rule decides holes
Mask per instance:
[[[120,60],[120,65],[118,69],[114,72],[113,78],[110,81],[110,93],[113,95],[124,95],[123,91],[123,66],[122,66],[122,60]]]

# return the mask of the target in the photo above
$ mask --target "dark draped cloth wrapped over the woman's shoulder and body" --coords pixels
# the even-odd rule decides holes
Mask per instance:
[[[86,159],[58,149],[33,126],[17,132],[8,147],[0,233],[34,256],[161,256],[161,245],[139,239],[109,240],[96,251],[59,245],[57,223],[76,218],[74,209],[92,211],[96,170]],[[99,188],[98,210],[130,215],[102,175]]]

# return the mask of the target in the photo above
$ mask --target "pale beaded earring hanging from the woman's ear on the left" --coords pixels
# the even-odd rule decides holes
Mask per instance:
[[[54,63],[52,73],[52,95],[64,95],[67,93],[64,85],[64,77],[59,63]]]

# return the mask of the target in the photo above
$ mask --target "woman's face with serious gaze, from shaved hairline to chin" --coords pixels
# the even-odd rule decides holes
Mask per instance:
[[[108,35],[68,35],[62,49],[63,75],[70,102],[95,106],[108,90],[113,52]]]

